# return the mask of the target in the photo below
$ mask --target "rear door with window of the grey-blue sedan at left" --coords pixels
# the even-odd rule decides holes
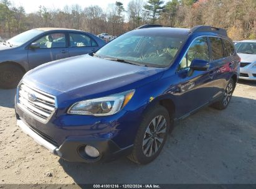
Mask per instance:
[[[98,50],[97,42],[90,36],[83,33],[69,33],[69,55],[74,57]]]

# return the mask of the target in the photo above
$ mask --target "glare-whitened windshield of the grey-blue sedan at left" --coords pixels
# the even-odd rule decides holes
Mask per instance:
[[[31,40],[32,38],[36,37],[39,34],[42,34],[42,30],[28,30],[23,32],[19,35],[12,37],[11,39],[7,40],[7,43],[10,45],[20,46],[25,44],[27,41]]]

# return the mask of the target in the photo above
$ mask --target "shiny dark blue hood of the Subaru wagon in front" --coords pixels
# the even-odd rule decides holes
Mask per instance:
[[[23,81],[54,91],[87,96],[122,88],[136,81],[139,82],[137,85],[143,85],[158,79],[161,74],[157,73],[163,70],[82,55],[41,65],[29,71]]]

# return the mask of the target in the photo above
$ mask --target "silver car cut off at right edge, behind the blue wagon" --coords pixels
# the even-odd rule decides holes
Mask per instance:
[[[241,58],[239,79],[256,81],[256,40],[242,40],[235,49]]]

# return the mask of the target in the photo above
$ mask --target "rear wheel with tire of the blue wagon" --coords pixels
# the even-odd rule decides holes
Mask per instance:
[[[216,103],[212,104],[211,105],[212,108],[219,109],[219,110],[226,109],[230,103],[230,99],[232,98],[232,94],[234,90],[235,90],[234,80],[230,79],[229,83],[225,88],[225,93],[223,97]]]

